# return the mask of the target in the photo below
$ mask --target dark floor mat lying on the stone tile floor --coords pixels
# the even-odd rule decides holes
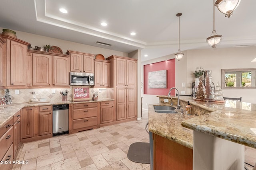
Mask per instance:
[[[127,157],[132,162],[150,164],[149,143],[136,142],[130,145]]]

